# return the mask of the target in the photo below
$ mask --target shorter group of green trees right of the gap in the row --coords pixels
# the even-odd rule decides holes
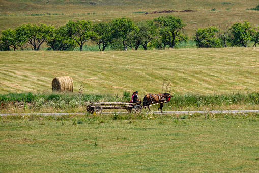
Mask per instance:
[[[195,31],[193,37],[196,46],[200,48],[213,47],[247,47],[253,42],[253,47],[259,42],[259,27],[253,27],[247,21],[228,24],[225,27],[207,27]]]

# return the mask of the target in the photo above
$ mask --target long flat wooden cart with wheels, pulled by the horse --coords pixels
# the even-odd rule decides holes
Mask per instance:
[[[87,102],[87,111],[89,113],[102,113],[103,109],[126,109],[128,112],[132,110],[135,113],[140,113],[142,107],[140,103],[131,103],[131,102]]]

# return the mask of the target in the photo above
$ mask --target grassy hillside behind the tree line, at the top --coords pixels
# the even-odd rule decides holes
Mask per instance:
[[[259,11],[245,10],[258,5],[257,0],[226,1],[231,4],[221,4],[221,0],[211,1],[95,1],[97,5],[90,5],[88,1],[4,1],[0,0],[0,14],[39,14],[64,13],[56,16],[0,16],[0,31],[14,28],[24,23],[46,23],[55,27],[65,24],[68,20],[90,19],[110,21],[117,17],[130,17],[134,21],[152,19],[165,14],[139,14],[134,12],[152,12],[162,10],[197,10],[189,13],[173,13],[187,24],[185,29],[189,36],[200,27],[226,25],[228,23],[247,20],[254,26],[259,24]],[[216,11],[211,11],[216,8]],[[78,14],[90,15],[78,15]],[[95,13],[95,14],[93,14]],[[73,15],[76,14],[76,15]]]

